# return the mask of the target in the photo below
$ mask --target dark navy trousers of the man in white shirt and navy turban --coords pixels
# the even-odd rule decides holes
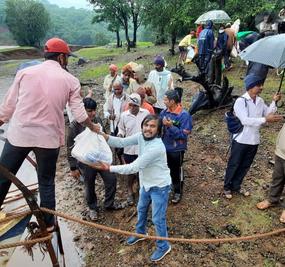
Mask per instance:
[[[258,145],[246,145],[240,144],[235,140],[232,141],[231,155],[224,178],[224,190],[240,190],[242,181],[253,162],[257,149]]]

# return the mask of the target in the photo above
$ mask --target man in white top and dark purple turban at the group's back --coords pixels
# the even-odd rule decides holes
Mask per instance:
[[[165,92],[173,89],[173,78],[171,72],[166,70],[165,60],[161,56],[157,56],[154,59],[155,69],[152,70],[148,75],[148,81],[152,82],[155,86],[157,102],[153,105],[155,112],[159,114],[165,105],[163,102]]]

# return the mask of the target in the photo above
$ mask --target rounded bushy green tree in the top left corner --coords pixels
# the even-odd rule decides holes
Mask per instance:
[[[40,47],[49,28],[49,14],[34,0],[7,0],[6,24],[19,45]]]

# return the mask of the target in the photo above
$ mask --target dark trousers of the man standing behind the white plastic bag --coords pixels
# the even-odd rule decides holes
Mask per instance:
[[[94,210],[98,210],[97,196],[95,193],[95,180],[98,173],[101,175],[105,186],[105,208],[111,207],[113,205],[117,186],[117,178],[115,174],[109,171],[97,171],[86,165],[83,167],[85,197],[87,205],[90,209]]]

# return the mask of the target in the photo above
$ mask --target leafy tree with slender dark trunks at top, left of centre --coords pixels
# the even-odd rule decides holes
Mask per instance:
[[[94,10],[105,22],[119,23],[125,31],[128,51],[136,47],[137,30],[141,25],[143,0],[89,0],[94,5]],[[129,23],[133,26],[133,40],[129,37]]]

